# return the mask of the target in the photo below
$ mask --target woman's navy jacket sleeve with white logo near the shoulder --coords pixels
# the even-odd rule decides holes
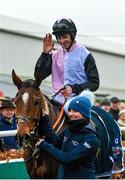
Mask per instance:
[[[59,162],[65,165],[73,165],[73,163],[79,163],[79,161],[87,159],[89,156],[93,156],[93,154],[95,155],[98,150],[98,146],[99,142],[96,135],[94,135],[92,138],[89,138],[83,144],[78,145],[75,149],[69,152],[63,152],[46,141],[41,142],[39,145],[40,148],[49,152]]]

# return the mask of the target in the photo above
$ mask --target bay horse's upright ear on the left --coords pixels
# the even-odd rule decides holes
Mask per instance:
[[[15,86],[20,89],[20,87],[22,86],[22,80],[20,79],[19,76],[16,75],[14,69],[12,70],[12,80],[13,80],[13,83],[15,84]]]

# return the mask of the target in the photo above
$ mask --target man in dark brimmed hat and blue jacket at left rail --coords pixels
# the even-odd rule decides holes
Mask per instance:
[[[4,99],[0,103],[0,131],[16,130],[15,105],[12,101]],[[14,136],[3,137],[6,149],[17,149],[17,143]]]

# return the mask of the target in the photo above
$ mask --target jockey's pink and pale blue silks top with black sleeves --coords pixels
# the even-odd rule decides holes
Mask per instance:
[[[96,91],[99,87],[99,74],[92,54],[76,42],[67,52],[60,47],[50,54],[42,53],[38,59],[34,76],[45,79],[52,74],[53,93],[65,85],[70,85],[73,94],[79,94],[85,89]],[[62,96],[57,96],[61,101]]]

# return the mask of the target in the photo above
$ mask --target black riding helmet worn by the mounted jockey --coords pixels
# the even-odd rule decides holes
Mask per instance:
[[[71,35],[72,40],[74,41],[77,33],[76,26],[71,19],[59,19],[53,25],[52,34],[56,36],[56,38],[60,35],[69,33]]]

